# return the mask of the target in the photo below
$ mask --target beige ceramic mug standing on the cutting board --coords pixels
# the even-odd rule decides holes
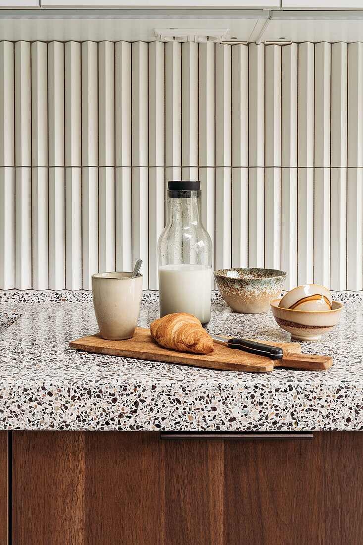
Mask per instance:
[[[99,272],[92,275],[92,296],[101,337],[129,339],[140,314],[142,274]]]

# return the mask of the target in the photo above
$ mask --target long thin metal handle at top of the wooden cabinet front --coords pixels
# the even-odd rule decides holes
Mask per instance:
[[[160,439],[217,439],[217,440],[256,440],[256,439],[272,439],[272,440],[295,440],[295,439],[313,439],[312,433],[307,432],[301,432],[301,433],[294,433],[294,432],[281,432],[281,433],[270,433],[270,432],[261,432],[261,433],[238,433],[238,432],[231,432],[231,433],[213,433],[213,432],[205,432],[205,433],[199,433],[199,432],[160,432]]]

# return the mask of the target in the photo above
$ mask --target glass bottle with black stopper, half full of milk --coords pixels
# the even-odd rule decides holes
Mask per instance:
[[[212,243],[201,219],[200,181],[168,182],[168,222],[158,241],[160,317],[210,320]]]

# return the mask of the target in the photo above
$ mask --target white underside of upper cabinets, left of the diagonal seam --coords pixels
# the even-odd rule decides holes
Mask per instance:
[[[22,11],[13,10],[12,13],[11,17],[9,15],[1,17],[0,14],[1,40],[154,41],[155,30],[162,34],[168,33],[172,26],[179,29],[182,36],[190,36],[191,40],[197,35],[198,40],[203,41],[203,37],[218,36],[222,31],[223,39],[236,43],[248,41],[252,35],[258,36],[268,17],[267,10],[258,13],[246,11],[246,16],[239,12],[239,18],[234,17],[235,10],[220,10],[214,18],[199,20],[183,17],[184,13],[188,15],[188,11],[171,9],[135,9],[135,16],[132,14],[130,16],[128,9],[105,10],[99,13],[99,16],[95,10],[77,11],[67,8],[62,12],[50,8],[29,9],[26,17]],[[223,14],[223,18],[218,17],[220,13]]]

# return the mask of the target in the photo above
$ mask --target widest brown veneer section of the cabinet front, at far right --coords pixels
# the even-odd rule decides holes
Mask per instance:
[[[360,432],[319,432],[312,441],[226,441],[224,542],[361,543],[361,447]]]

